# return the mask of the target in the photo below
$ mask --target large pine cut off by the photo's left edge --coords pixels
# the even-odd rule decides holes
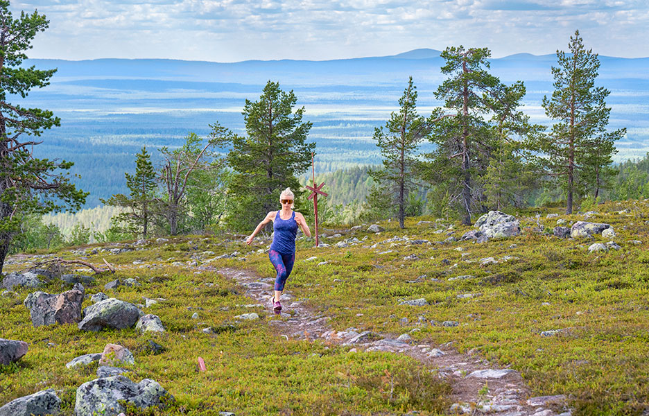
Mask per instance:
[[[58,211],[65,206],[79,209],[87,193],[76,189],[68,173],[73,165],[59,159],[37,159],[33,147],[42,143],[24,136],[39,137],[44,130],[60,125],[49,110],[24,108],[8,98],[26,98],[33,88],[49,85],[56,69],[24,67],[25,51],[49,21],[36,11],[14,18],[9,1],[0,1],[0,270],[20,218]]]

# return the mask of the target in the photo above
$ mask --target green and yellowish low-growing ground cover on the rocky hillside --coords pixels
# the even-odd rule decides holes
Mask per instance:
[[[336,331],[408,332],[414,344],[452,343],[459,352],[518,370],[532,395],[566,395],[573,415],[643,415],[649,411],[649,203],[609,202],[597,211],[589,220],[611,224],[620,250],[589,253],[591,243],[605,242],[601,236],[560,240],[544,234],[557,222],[546,218],[547,210],[512,212],[521,219],[521,236],[481,244],[442,243],[472,227],[435,218],[408,218],[405,230],[395,222],[381,223],[386,231],[379,234],[365,232],[367,225],[353,232],[339,229],[341,236],[322,239],[330,244],[326,248],[298,241],[286,289],[314,315],[330,318]],[[559,218],[568,226],[585,219]],[[431,244],[413,244],[416,239]],[[340,241],[347,247],[338,247]],[[291,311],[237,322],[234,316],[255,309],[245,306],[251,302],[241,286],[215,270],[246,268],[272,277],[261,250],[268,243],[257,240],[249,248],[232,236],[188,236],[151,240],[142,250],[122,254],[81,248],[87,261],[99,265],[105,258],[118,267],[115,275],[98,277],[86,293],[105,291],[103,285],[115,278],[134,277],[141,286],[106,292],[136,304],[144,303],[142,297],[165,299],[144,309],[159,315],[167,329],[162,336],[142,336],[135,329],[85,333],[73,325],[35,329],[22,304],[27,290],[1,296],[2,337],[24,340],[30,349],[18,363],[0,367],[0,404],[51,387],[60,390],[63,414],[72,415],[75,389],[96,378],[96,364],[79,372],[65,363],[101,352],[106,343],[120,343],[136,352],[131,379],[155,379],[176,397],[168,414],[435,415],[448,410],[448,385],[427,379],[432,369],[413,358],[349,354],[351,346],[284,337],[273,322],[288,322]],[[214,259],[235,251],[243,254]],[[59,254],[78,259],[79,253]],[[488,257],[494,261],[483,260]],[[14,257],[4,271],[33,260]],[[470,277],[456,279],[460,276]],[[42,290],[65,288],[52,282]],[[399,304],[417,298],[429,304]],[[86,300],[84,306],[89,304]],[[198,320],[191,318],[194,312]],[[444,321],[458,325],[440,324]],[[204,333],[205,327],[213,333]],[[149,339],[166,352],[142,352]],[[196,372],[197,356],[205,358],[207,372]],[[395,374],[398,385],[390,394],[386,374]],[[421,377],[416,381],[406,374]]]

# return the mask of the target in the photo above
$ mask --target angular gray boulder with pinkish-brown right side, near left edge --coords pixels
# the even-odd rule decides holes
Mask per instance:
[[[34,327],[53,324],[76,324],[81,320],[83,286],[78,283],[71,291],[56,295],[44,292],[30,293],[23,302]]]

